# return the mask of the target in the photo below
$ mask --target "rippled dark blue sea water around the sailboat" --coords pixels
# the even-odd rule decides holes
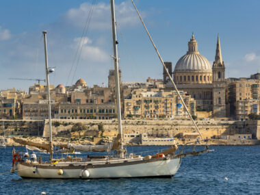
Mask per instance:
[[[128,151],[161,148],[166,147],[134,146]],[[211,148],[213,153],[184,158],[172,179],[47,180],[21,179],[8,173],[0,174],[0,194],[260,194],[260,146]],[[12,148],[0,150],[0,154],[0,172],[10,171]]]

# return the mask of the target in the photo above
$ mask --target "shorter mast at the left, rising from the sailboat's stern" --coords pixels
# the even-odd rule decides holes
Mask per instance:
[[[45,72],[46,72],[46,81],[47,81],[47,91],[48,91],[48,109],[49,109],[49,143],[51,146],[50,149],[50,161],[53,159],[53,143],[52,143],[52,131],[51,131],[51,96],[50,96],[50,88],[49,88],[49,68],[48,68],[48,53],[47,53],[47,31],[42,31],[44,38],[44,54],[45,54]]]

